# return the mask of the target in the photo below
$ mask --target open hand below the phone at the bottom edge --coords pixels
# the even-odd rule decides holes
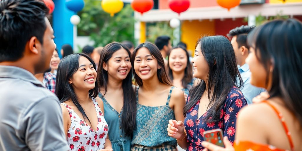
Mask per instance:
[[[204,146],[204,148],[205,148],[203,151],[208,151],[208,150],[211,150],[211,151],[235,151],[232,143],[227,139],[226,136],[223,137],[223,143],[224,143],[224,146],[226,146],[226,148],[214,145],[214,144],[212,144],[210,142],[206,142],[206,141],[202,141],[201,145]]]

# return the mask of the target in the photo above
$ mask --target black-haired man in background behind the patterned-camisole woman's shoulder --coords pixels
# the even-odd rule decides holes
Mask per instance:
[[[160,50],[162,58],[165,61],[165,65],[168,66],[167,55],[172,49],[171,41],[169,36],[159,36],[155,40],[156,47]]]

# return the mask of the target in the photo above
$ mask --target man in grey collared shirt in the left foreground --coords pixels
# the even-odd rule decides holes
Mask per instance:
[[[0,0],[0,150],[67,151],[59,100],[34,74],[56,44],[42,0]]]

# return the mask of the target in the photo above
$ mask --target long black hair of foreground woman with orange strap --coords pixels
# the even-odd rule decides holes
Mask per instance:
[[[256,28],[248,36],[248,44],[255,49],[257,59],[271,85],[266,88],[270,97],[281,97],[302,125],[302,23],[296,19],[275,20]]]

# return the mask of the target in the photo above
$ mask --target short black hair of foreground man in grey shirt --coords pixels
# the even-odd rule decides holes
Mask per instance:
[[[0,62],[23,57],[31,37],[43,44],[49,9],[41,0],[0,1]]]

